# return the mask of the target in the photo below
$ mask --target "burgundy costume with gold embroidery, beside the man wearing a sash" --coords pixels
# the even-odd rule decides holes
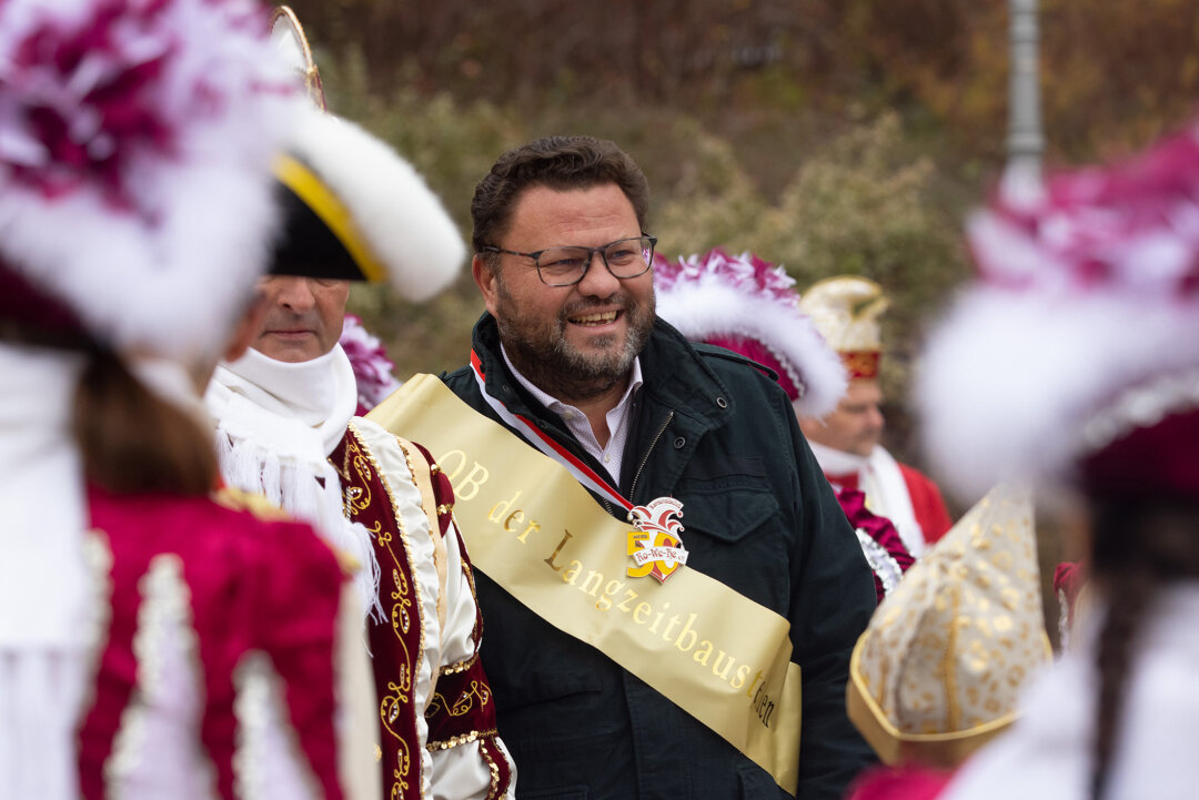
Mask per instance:
[[[453,489],[428,450],[380,432],[355,420],[329,460],[349,519],[373,534],[380,566],[385,619],[368,622],[367,629],[380,701],[384,788],[397,800],[427,796],[422,783],[430,782],[441,792],[478,796],[469,780],[438,778],[457,771],[451,763],[478,758],[490,774],[484,796],[500,798],[511,790],[513,769],[498,744],[495,702],[478,659],[483,622],[453,525]],[[390,462],[396,457],[404,460],[408,475]],[[411,489],[420,507],[405,501]],[[432,554],[422,557],[424,550]],[[457,574],[435,576],[445,570]],[[411,752],[412,743],[434,757]]]

